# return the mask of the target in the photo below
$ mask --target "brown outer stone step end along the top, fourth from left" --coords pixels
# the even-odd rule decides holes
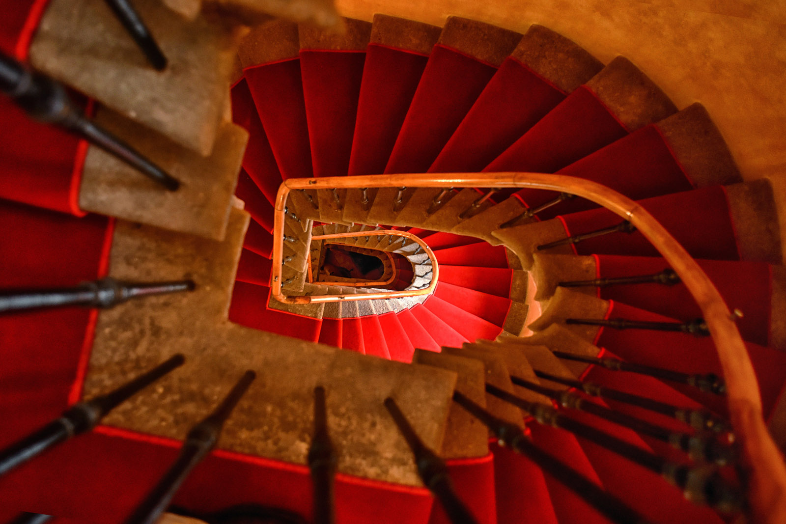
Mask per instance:
[[[516,31],[459,16],[448,16],[439,35],[439,43],[443,46],[458,49],[496,67],[516,49],[520,40],[521,33]]]

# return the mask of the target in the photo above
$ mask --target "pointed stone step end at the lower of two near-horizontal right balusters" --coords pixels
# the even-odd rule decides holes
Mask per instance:
[[[570,288],[556,288],[541,316],[527,327],[533,331],[540,331],[549,327],[549,324],[565,325],[566,318],[602,319],[606,316],[608,307],[609,302],[606,300],[572,291]],[[565,327],[586,340],[594,340],[599,330],[597,326],[566,325]]]

